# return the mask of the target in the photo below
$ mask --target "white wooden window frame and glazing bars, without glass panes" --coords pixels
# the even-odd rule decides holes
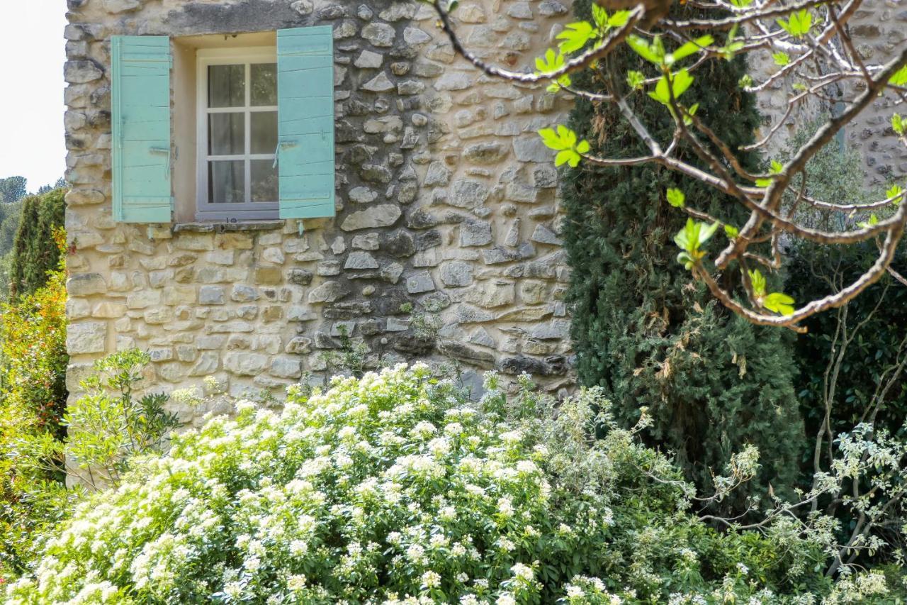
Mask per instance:
[[[251,201],[251,170],[250,160],[274,160],[275,153],[251,154],[251,114],[256,112],[277,112],[278,105],[251,106],[251,64],[278,62],[277,48],[274,46],[247,46],[243,48],[201,48],[197,54],[196,82],[197,82],[197,110],[196,110],[196,218],[199,221],[222,220],[229,222],[248,220],[273,220],[278,218],[279,201],[252,202]],[[246,99],[245,106],[241,108],[245,117],[245,154],[242,155],[210,155],[208,154],[208,115],[239,113],[239,107],[214,107],[208,106],[208,68],[210,65],[246,65]],[[279,119],[279,116],[278,116]],[[277,150],[275,149],[275,152]],[[243,203],[209,203],[208,201],[208,163],[210,160],[243,160],[245,161],[246,199]]]

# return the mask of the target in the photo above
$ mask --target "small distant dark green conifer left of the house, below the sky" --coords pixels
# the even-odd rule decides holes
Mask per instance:
[[[47,283],[47,272],[56,268],[60,251],[54,229],[63,226],[66,204],[63,188],[30,195],[22,202],[22,215],[15,233],[10,262],[10,293],[15,299]]]

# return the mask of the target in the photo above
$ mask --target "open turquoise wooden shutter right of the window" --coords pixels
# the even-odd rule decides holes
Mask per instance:
[[[330,25],[278,30],[278,112],[280,218],[334,216]]]

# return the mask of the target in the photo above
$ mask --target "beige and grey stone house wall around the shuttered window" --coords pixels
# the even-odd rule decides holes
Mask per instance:
[[[94,359],[137,346],[150,384],[208,376],[241,396],[278,392],[339,335],[368,365],[463,362],[569,388],[568,268],[557,174],[535,134],[564,100],[477,74],[454,57],[425,5],[316,0],[68,0],[66,227],[69,386]],[[558,0],[479,0],[458,9],[468,44],[530,68],[569,18]],[[110,36],[200,35],[334,26],[334,220],[115,223],[111,204]],[[176,204],[194,204],[177,199]],[[410,326],[440,318],[440,352]],[[200,387],[201,388],[201,387]],[[191,416],[191,412],[186,412]]]

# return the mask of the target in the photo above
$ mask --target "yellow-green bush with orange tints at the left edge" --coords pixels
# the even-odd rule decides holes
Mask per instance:
[[[56,234],[57,243],[65,235]],[[0,316],[0,573],[22,570],[34,532],[59,518],[63,467],[36,444],[63,438],[66,404],[65,256],[33,294]]]

